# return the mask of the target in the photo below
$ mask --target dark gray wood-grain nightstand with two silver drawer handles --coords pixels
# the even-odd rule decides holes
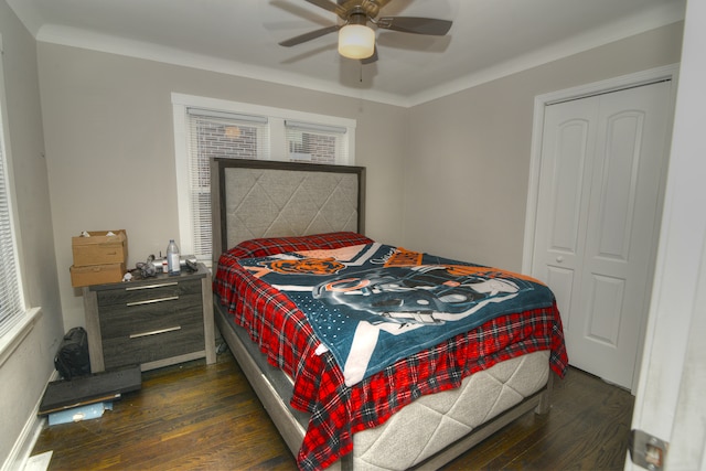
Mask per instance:
[[[211,274],[159,274],[83,288],[90,372],[216,360]]]

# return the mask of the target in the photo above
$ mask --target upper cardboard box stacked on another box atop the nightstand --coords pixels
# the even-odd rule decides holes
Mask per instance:
[[[115,235],[107,235],[113,232]],[[90,237],[72,237],[74,267],[126,264],[128,235],[125,229],[89,231]]]

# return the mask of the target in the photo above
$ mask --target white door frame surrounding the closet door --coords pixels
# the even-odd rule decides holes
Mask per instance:
[[[542,165],[542,137],[544,135],[544,115],[545,108],[548,105],[568,101],[579,98],[586,98],[589,96],[600,95],[610,92],[617,92],[624,88],[632,88],[641,85],[648,85],[661,81],[672,81],[671,97],[670,97],[670,117],[667,120],[667,129],[670,130],[666,139],[666,146],[664,148],[665,156],[668,156],[671,130],[674,115],[674,104],[676,101],[676,84],[678,79],[678,64],[671,64],[663,67],[651,68],[634,74],[622,75],[606,81],[593,82],[590,84],[579,85],[563,90],[550,92],[543,95],[537,95],[534,99],[534,117],[532,129],[532,149],[530,156],[530,181],[527,186],[527,205],[525,211],[525,232],[524,244],[522,249],[522,272],[532,272],[532,260],[534,259],[534,243],[537,218],[537,205],[539,199],[539,169]],[[666,162],[665,162],[666,163]],[[659,212],[661,215],[661,208],[664,201],[664,189],[666,183],[666,164],[662,172],[662,181],[660,183],[660,205]],[[659,235],[660,235],[661,216],[657,217],[655,223],[655,231],[653,236],[653,254],[656,254]],[[654,267],[652,267],[654,269]],[[651,293],[645,293],[646,302],[650,301]],[[648,303],[645,303],[648,306]],[[646,329],[646,315],[640,322],[640,341],[638,343],[637,363],[632,379],[632,394],[635,394],[638,387],[638,378],[640,373],[641,360],[644,334]]]

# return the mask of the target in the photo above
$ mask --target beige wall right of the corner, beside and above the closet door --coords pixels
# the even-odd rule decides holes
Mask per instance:
[[[677,63],[682,28],[660,28],[414,107],[406,247],[520,270],[535,96]]]

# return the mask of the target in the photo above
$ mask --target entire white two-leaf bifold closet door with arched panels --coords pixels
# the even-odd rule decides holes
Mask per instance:
[[[569,362],[632,387],[656,247],[670,84],[545,111],[533,275],[554,290]]]

